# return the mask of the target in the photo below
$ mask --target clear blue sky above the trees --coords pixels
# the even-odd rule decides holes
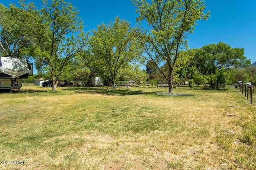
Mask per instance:
[[[41,2],[41,0],[26,0]],[[80,11],[84,20],[84,31],[96,29],[102,22],[114,21],[116,16],[126,19],[134,25],[138,13],[131,0],[66,0]],[[18,0],[0,0],[8,6]],[[256,0],[205,0],[206,11],[210,11],[207,21],[198,21],[194,33],[188,35],[189,48],[201,48],[204,45],[220,41],[232,48],[244,48],[244,56],[256,62]],[[40,5],[38,6],[40,8]]]

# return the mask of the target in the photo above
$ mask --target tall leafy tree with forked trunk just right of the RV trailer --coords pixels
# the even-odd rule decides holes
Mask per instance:
[[[30,54],[36,59],[37,68],[47,67],[56,90],[58,80],[66,66],[85,47],[85,34],[78,10],[64,0],[42,0],[44,8],[34,10],[31,4],[22,3],[30,11],[26,18],[27,28],[32,32],[34,45]]]

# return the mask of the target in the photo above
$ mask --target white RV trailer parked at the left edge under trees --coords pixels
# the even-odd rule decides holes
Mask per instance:
[[[14,57],[0,57],[0,90],[22,87],[22,79],[33,75],[33,64]]]

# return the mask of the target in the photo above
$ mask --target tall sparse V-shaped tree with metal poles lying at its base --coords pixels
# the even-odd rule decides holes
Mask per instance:
[[[206,20],[203,0],[133,0],[140,13],[138,21],[146,20],[149,30],[140,33],[145,52],[160,68],[162,61],[168,65],[169,92],[172,92],[173,70],[180,51],[186,47],[186,37],[192,33],[198,20]]]

